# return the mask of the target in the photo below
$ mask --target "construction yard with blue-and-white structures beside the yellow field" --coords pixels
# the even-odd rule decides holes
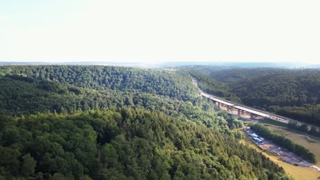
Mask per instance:
[[[258,147],[265,151],[269,151],[273,153],[274,155],[280,157],[281,160],[283,160],[286,163],[293,164],[295,166],[303,166],[303,167],[310,167],[314,168],[315,170],[320,171],[320,168],[316,166],[315,164],[312,164],[301,157],[295,155],[294,153],[287,151],[286,149],[283,149],[282,147],[274,144],[273,142],[269,140],[265,140],[264,138],[261,138],[256,134],[254,131],[250,130],[250,127],[246,127],[244,129],[245,133],[248,134],[252,138],[252,141],[256,143]]]

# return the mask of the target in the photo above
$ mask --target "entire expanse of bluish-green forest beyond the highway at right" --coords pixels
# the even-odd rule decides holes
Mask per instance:
[[[203,91],[320,125],[320,70],[275,68],[189,70]]]

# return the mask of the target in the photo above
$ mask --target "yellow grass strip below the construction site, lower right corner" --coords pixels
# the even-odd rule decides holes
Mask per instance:
[[[272,153],[262,151],[261,149],[259,149],[254,144],[254,142],[252,142],[251,138],[248,136],[245,136],[245,140],[242,140],[241,142],[243,142],[246,145],[249,145],[250,147],[256,149],[257,151],[261,151],[264,155],[269,157],[270,160],[272,160],[273,162],[276,162],[279,166],[282,166],[282,168],[284,168],[286,174],[290,175],[294,179],[297,179],[297,180],[298,179],[302,179],[302,180],[320,179],[320,172],[317,172],[317,170],[287,164],[287,163],[283,162],[282,160],[280,160],[280,158],[277,157],[276,155],[273,155]]]

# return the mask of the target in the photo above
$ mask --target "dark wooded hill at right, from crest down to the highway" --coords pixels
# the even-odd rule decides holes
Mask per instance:
[[[320,75],[261,76],[232,92],[248,106],[320,125]]]

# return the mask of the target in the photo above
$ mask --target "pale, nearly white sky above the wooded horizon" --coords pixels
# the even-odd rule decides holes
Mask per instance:
[[[0,61],[320,64],[320,1],[0,0]]]

